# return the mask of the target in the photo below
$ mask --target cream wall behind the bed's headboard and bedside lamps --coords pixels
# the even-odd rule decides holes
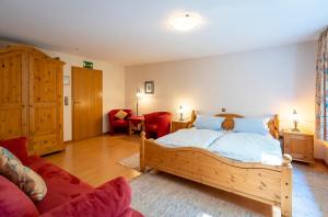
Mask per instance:
[[[301,128],[314,132],[316,43],[126,68],[126,105],[136,107],[136,89],[155,82],[155,94],[140,101],[141,113],[172,111],[181,104],[200,113],[246,116],[279,114],[291,127],[296,108]],[[186,115],[188,115],[186,114]],[[320,145],[316,157],[323,158]]]

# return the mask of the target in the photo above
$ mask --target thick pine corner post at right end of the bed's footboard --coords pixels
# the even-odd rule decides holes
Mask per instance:
[[[293,171],[292,157],[283,155],[281,179],[281,216],[290,217],[292,213]]]

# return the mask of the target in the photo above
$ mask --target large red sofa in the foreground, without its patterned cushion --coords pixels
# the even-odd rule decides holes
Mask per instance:
[[[26,138],[0,141],[0,146],[9,149],[45,180],[48,192],[42,202],[34,204],[16,185],[0,175],[1,217],[142,216],[130,207],[131,190],[124,178],[94,189],[40,157],[27,157],[26,145]]]

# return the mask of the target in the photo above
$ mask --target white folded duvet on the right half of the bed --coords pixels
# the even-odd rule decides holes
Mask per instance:
[[[261,162],[271,165],[280,165],[282,162],[280,142],[269,135],[227,133],[216,139],[209,150],[243,162]]]

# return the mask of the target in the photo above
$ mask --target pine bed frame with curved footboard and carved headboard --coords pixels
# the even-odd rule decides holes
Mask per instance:
[[[218,114],[225,117],[222,128],[232,129],[237,114]],[[196,113],[192,112],[192,126]],[[279,138],[279,119],[270,119],[269,129]],[[145,139],[141,133],[140,168],[155,169],[232,192],[272,206],[281,207],[282,216],[292,216],[292,158],[283,155],[281,165],[247,163],[220,157],[207,149],[195,147],[169,148]]]

